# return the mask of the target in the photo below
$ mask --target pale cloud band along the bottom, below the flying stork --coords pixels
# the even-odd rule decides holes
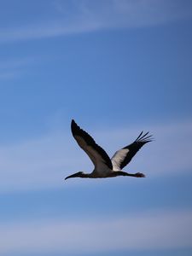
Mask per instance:
[[[192,212],[0,224],[0,253],[95,253],[192,246]]]

